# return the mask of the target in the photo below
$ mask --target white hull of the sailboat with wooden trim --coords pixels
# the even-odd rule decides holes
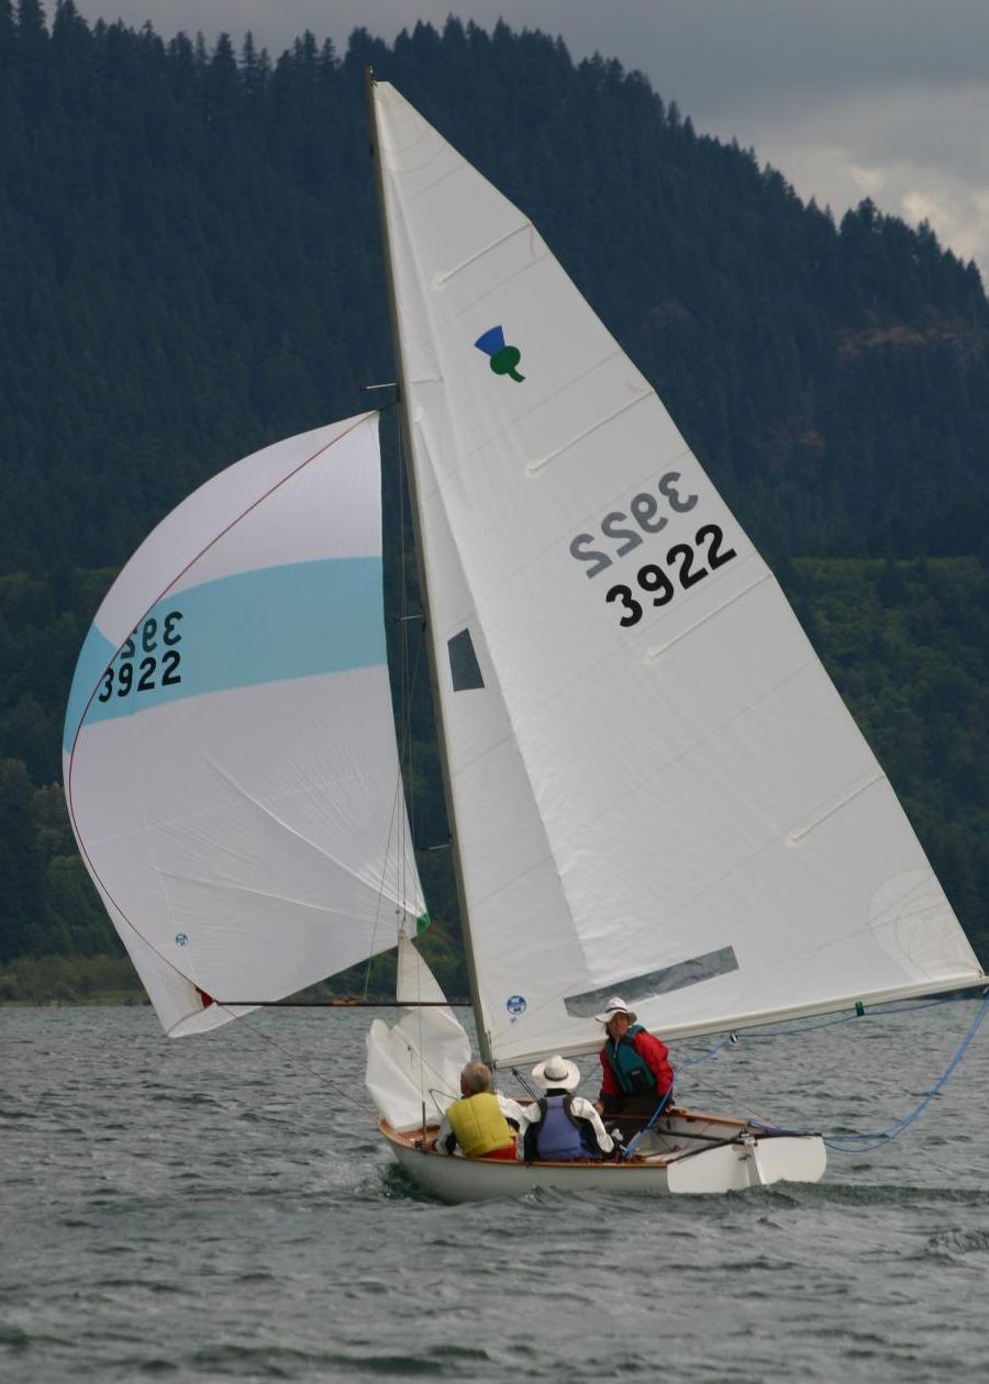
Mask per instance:
[[[773,1182],[820,1182],[827,1151],[820,1135],[772,1135],[742,1120],[676,1110],[640,1143],[629,1163],[503,1163],[446,1157],[418,1147],[421,1129],[378,1128],[399,1167],[442,1201],[554,1192],[702,1194],[742,1192]],[[435,1131],[431,1131],[435,1133]]]

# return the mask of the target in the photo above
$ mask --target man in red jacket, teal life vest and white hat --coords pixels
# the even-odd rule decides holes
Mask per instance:
[[[621,995],[612,995],[603,1014],[607,1041],[601,1049],[601,1092],[597,1109],[619,1120],[622,1132],[641,1129],[673,1091],[673,1068],[666,1044],[636,1023]]]

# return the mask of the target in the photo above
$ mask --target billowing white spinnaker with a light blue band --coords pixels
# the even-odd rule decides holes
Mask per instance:
[[[169,1034],[422,912],[385,664],[377,415],[220,472],[97,612],[65,721],[83,859]]]

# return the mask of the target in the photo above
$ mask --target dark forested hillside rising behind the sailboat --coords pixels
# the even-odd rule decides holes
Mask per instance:
[[[641,76],[537,33],[450,21],[270,58],[0,0],[0,962],[114,948],[54,785],[115,570],[206,476],[393,378],[367,64],[525,208],[657,386],[989,959],[972,264],[867,202],[835,224]],[[418,738],[431,846],[425,720]],[[456,937],[449,880],[427,869],[438,937]]]

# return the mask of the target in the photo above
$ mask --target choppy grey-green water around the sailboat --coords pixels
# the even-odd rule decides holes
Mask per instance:
[[[680,1100],[884,1128],[974,1013],[744,1039]],[[989,1021],[903,1138],[819,1186],[467,1207],[378,1142],[368,1021],[168,1042],[141,1008],[0,1009],[0,1377],[985,1380]]]

